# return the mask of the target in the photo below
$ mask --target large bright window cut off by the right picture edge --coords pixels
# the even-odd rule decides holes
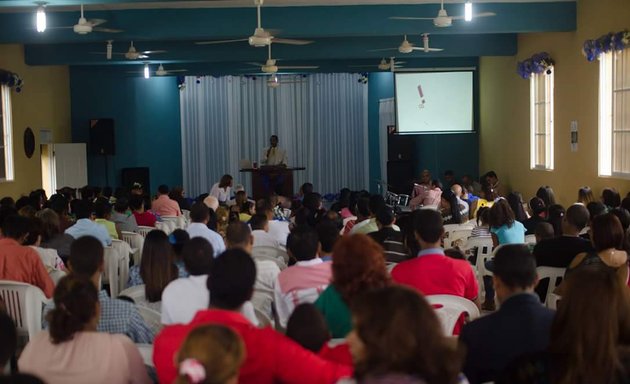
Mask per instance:
[[[600,56],[599,174],[630,178],[630,49]]]

